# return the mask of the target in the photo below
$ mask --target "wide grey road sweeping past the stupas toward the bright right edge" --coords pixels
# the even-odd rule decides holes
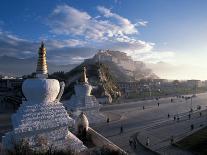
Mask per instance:
[[[157,103],[160,103],[158,106]],[[201,106],[201,110],[206,109],[207,93],[198,94],[192,99],[192,107],[194,110],[197,106]],[[144,106],[144,109],[143,109]],[[163,98],[159,101],[148,100],[131,103],[123,103],[119,105],[104,106],[101,111],[109,114],[109,117],[119,115],[119,119],[107,123],[100,123],[93,126],[95,130],[109,138],[112,142],[128,151],[130,154],[137,153],[129,146],[129,139],[135,133],[151,128],[166,121],[173,120],[174,116],[187,117],[191,109],[191,100],[182,98]],[[168,118],[168,114],[170,118]],[[123,126],[123,134],[120,134],[120,127]],[[151,154],[146,150],[141,150],[142,154]]]

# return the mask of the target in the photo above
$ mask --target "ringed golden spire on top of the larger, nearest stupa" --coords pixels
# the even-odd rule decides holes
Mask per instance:
[[[47,71],[47,62],[46,62],[46,48],[43,42],[41,43],[38,54],[39,56],[37,62],[36,77],[47,78],[48,71]]]

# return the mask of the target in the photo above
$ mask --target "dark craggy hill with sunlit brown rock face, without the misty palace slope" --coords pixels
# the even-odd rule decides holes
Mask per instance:
[[[99,63],[82,63],[72,69],[70,72],[55,72],[49,78],[56,78],[59,81],[64,81],[66,84],[63,94],[63,100],[69,99],[74,94],[74,85],[81,80],[83,67],[87,69],[87,77],[89,83],[93,86],[92,95],[97,98],[104,96],[116,100],[121,92],[117,86],[116,80],[109,72],[108,66]]]

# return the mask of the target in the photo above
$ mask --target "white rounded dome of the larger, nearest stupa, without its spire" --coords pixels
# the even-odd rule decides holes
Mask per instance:
[[[50,103],[55,101],[60,91],[60,84],[55,79],[27,79],[22,91],[30,103]]]

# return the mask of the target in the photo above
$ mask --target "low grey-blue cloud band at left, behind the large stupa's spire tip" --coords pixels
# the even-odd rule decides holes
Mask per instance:
[[[74,39],[45,40],[48,61],[57,64],[80,63],[84,58],[89,58],[96,52],[96,49],[83,47],[83,44],[84,42]],[[37,57],[39,46],[40,41],[29,41],[0,31],[0,56]]]

